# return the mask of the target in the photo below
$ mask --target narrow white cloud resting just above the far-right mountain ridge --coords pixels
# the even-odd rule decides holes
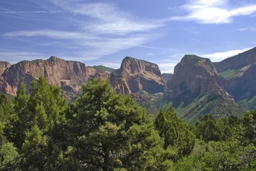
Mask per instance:
[[[202,55],[202,57],[209,58],[212,62],[218,62],[218,61],[224,60],[227,57],[232,57],[234,55],[238,55],[239,53],[245,52],[249,49],[252,49],[252,48],[250,47],[250,48],[244,48],[244,49],[239,49],[239,50],[230,50],[227,52],[216,52],[213,54]]]

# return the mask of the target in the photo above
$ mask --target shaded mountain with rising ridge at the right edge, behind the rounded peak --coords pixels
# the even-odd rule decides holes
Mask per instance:
[[[256,107],[256,47],[213,65],[220,77],[221,87],[246,110]],[[226,78],[226,79],[225,79]]]

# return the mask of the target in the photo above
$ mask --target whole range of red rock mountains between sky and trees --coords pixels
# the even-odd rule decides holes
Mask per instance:
[[[73,101],[85,81],[109,79],[114,91],[130,94],[147,108],[148,114],[156,116],[160,108],[167,109],[172,104],[178,116],[192,123],[206,113],[220,118],[241,116],[244,110],[254,109],[255,62],[256,48],[217,63],[197,55],[185,55],[175,66],[174,74],[161,74],[157,64],[131,57],[123,59],[120,69],[110,70],[52,56],[13,65],[1,62],[0,91],[14,96],[23,78],[28,88],[33,78],[43,75],[48,84],[59,85],[62,95]]]

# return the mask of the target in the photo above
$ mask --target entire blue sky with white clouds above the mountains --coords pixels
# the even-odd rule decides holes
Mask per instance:
[[[256,46],[256,0],[0,0],[0,61],[54,55],[119,68],[125,56],[173,68]]]

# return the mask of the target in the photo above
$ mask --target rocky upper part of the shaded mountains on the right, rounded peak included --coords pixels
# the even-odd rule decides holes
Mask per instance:
[[[175,66],[165,98],[175,100],[181,94],[189,97],[209,93],[236,102],[250,100],[256,96],[255,73],[256,48],[213,63],[207,58],[185,55]]]

